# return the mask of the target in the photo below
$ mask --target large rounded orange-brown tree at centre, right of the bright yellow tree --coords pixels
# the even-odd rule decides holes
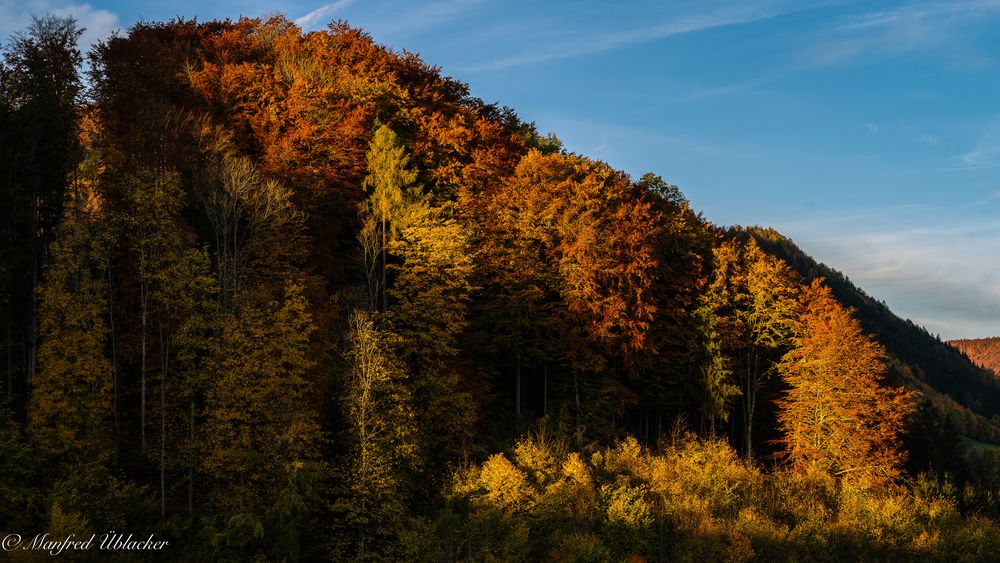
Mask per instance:
[[[513,356],[520,414],[522,362],[558,359],[573,374],[635,375],[657,305],[659,214],[628,176],[601,162],[531,151],[490,194],[478,233],[492,347]],[[594,379],[613,419],[623,385]],[[547,385],[546,385],[547,388]],[[596,405],[595,405],[596,406]],[[603,407],[609,407],[604,409]]]

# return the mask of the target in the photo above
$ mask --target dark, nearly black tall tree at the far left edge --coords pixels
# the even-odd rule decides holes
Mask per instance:
[[[67,183],[79,159],[77,105],[83,32],[69,17],[32,18],[3,53],[0,72],[0,206],[4,288],[0,317],[7,387],[24,389],[35,371],[38,301],[49,243],[62,219]],[[6,110],[2,107],[6,106]],[[16,372],[16,374],[15,374]],[[18,381],[15,382],[14,380]]]

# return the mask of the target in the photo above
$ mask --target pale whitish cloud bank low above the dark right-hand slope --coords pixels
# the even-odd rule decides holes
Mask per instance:
[[[811,217],[784,228],[817,260],[933,333],[1000,335],[1000,284],[988,259],[1000,252],[1000,222],[933,222],[934,214],[894,207],[856,217]]]

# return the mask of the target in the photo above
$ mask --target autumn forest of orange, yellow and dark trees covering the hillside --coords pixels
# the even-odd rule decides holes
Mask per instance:
[[[167,542],[59,555],[105,561],[1000,553],[1000,379],[776,231],[343,21],[80,35],[0,45],[0,536]]]

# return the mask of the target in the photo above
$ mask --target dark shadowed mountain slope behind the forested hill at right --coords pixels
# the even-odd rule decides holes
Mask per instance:
[[[962,436],[1000,444],[1000,378],[973,363],[971,355],[949,346],[913,321],[901,319],[885,302],[869,296],[841,272],[817,262],[774,229],[735,227],[730,235],[753,237],[762,249],[784,260],[807,282],[824,278],[841,304],[856,310],[865,331],[890,356],[890,381],[922,396],[910,432],[911,439],[917,442],[910,444],[915,464],[929,462],[940,470],[950,470],[949,465],[956,462],[943,456],[940,446],[943,442],[953,443],[955,455],[962,457],[965,445],[970,443]],[[1000,339],[992,340],[993,357],[1000,358]]]

